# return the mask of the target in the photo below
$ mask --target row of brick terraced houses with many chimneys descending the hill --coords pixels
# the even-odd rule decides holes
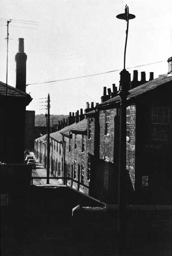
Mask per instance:
[[[171,200],[172,58],[168,74],[146,81],[133,71],[127,98],[127,201],[164,203]],[[117,87],[104,87],[101,103],[68,117],[68,125],[50,134],[51,173],[106,203],[116,203],[119,165],[120,97]],[[46,135],[35,140],[36,158],[46,167]]]

